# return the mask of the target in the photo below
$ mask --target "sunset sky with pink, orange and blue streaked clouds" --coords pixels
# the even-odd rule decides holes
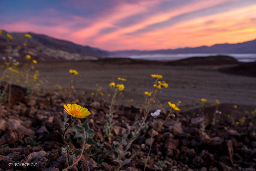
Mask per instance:
[[[156,50],[256,38],[256,0],[2,0],[0,29],[103,50]]]

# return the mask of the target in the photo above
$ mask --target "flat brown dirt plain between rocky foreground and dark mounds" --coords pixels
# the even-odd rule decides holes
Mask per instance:
[[[74,76],[73,85],[77,95],[89,97],[102,88],[104,96],[98,98],[110,100],[108,94],[113,94],[109,83],[120,83],[118,77],[125,78],[124,97],[119,96],[117,103],[141,106],[144,102],[144,91],[153,89],[154,78],[151,74],[163,75],[162,81],[169,84],[158,95],[159,101],[167,107],[168,102],[181,101],[181,108],[189,109],[200,106],[201,98],[206,98],[207,103],[215,104],[215,99],[220,103],[255,105],[256,77],[230,75],[218,72],[219,68],[226,66],[166,66],[159,64],[110,64],[92,61],[80,62],[39,62],[36,69],[40,77],[49,76],[53,83],[50,88],[57,89],[58,82],[63,87],[68,87],[70,81],[69,69],[76,69],[79,74]],[[98,84],[98,87],[96,86]],[[133,100],[131,102],[131,99]],[[159,103],[159,104],[160,104]]]

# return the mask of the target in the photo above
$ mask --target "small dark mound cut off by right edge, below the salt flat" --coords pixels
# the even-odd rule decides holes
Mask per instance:
[[[222,73],[256,77],[256,62],[243,63],[234,67],[219,69]]]

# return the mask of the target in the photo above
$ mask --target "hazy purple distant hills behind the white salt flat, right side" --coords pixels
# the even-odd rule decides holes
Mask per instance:
[[[213,46],[200,46],[200,47],[186,47],[178,49],[162,49],[154,51],[114,51],[111,52],[112,56],[125,56],[125,55],[148,55],[148,54],[180,54],[180,53],[256,53],[256,39],[248,42],[237,44],[216,44]]]

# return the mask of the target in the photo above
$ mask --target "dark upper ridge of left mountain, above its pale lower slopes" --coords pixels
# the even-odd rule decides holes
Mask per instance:
[[[3,34],[0,35],[0,45],[5,44],[6,42],[6,31],[3,31]],[[108,51],[102,51],[101,49],[98,48],[93,48],[90,46],[82,46],[78,44],[74,44],[69,41],[65,40],[60,40],[56,38],[52,38],[46,35],[42,34],[35,34],[35,33],[9,33],[12,35],[13,39],[10,42],[13,45],[16,45],[15,43],[21,44],[24,42],[25,37],[24,34],[30,34],[32,36],[31,39],[28,39],[27,45],[28,47],[47,47],[50,49],[54,50],[60,50],[64,52],[69,52],[69,53],[76,53],[76,54],[81,54],[81,55],[88,55],[88,56],[93,56],[93,57],[105,57],[109,55]]]

